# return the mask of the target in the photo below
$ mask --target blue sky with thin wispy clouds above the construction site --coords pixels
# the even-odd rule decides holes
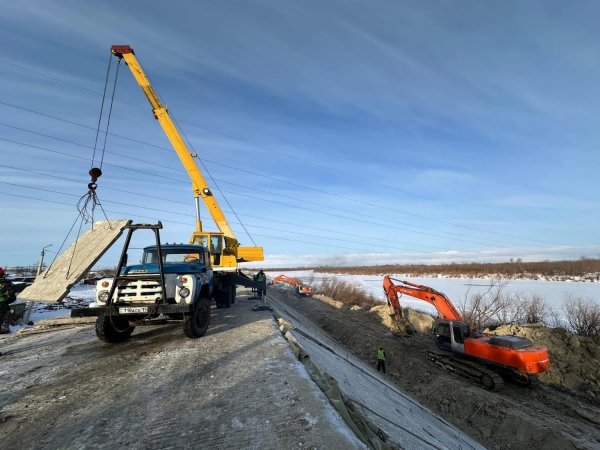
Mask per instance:
[[[112,44],[135,49],[265,267],[600,254],[597,2],[2,9],[0,265],[56,250],[75,220]],[[186,242],[190,182],[121,69],[99,197]]]

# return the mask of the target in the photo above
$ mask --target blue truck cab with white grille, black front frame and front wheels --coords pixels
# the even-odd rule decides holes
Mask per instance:
[[[204,336],[210,325],[210,300],[217,295],[210,252],[201,245],[162,244],[162,223],[123,227],[127,237],[116,274],[96,282],[96,304],[73,308],[71,317],[97,317],[96,336],[124,342],[138,326],[183,323],[192,339]],[[154,233],[156,245],[144,248],[139,264],[128,265],[131,236],[137,230]],[[220,283],[222,285],[222,282]]]

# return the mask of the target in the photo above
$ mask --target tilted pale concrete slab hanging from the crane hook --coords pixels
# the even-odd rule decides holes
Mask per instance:
[[[25,288],[19,300],[60,303],[83,276],[123,234],[130,220],[101,220],[79,236],[71,246]]]

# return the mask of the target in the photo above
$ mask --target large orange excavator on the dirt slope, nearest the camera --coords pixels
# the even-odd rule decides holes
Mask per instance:
[[[399,331],[410,330],[402,316],[402,294],[433,305],[439,313],[433,326],[434,341],[442,352],[429,352],[428,359],[434,365],[487,390],[502,388],[499,374],[507,374],[522,385],[535,385],[538,383],[536,374],[546,372],[550,367],[548,350],[533,345],[529,339],[474,333],[448,297],[435,289],[386,276],[383,290],[391,310],[390,316]]]

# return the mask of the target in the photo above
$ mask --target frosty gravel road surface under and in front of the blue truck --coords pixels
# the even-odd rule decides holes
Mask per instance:
[[[0,341],[3,449],[364,448],[268,312],[238,292],[207,335],[90,326]]]

